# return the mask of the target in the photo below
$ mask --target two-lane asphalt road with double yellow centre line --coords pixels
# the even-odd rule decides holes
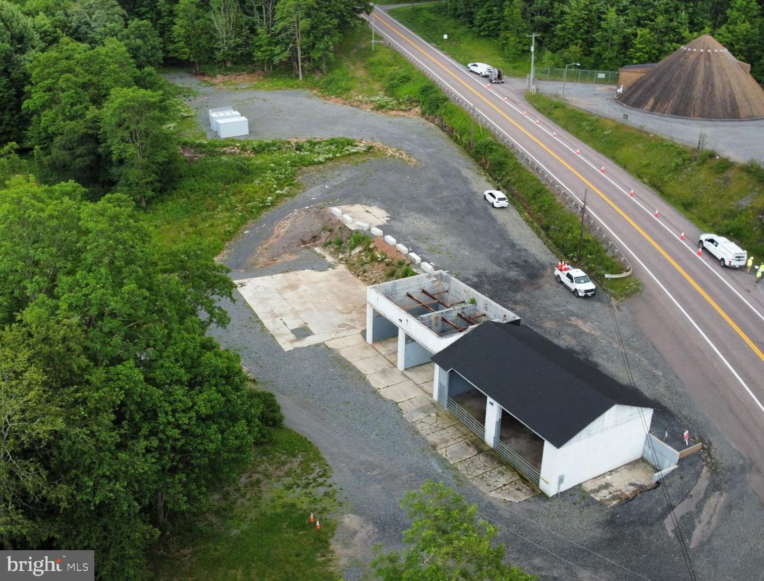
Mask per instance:
[[[472,105],[486,125],[514,140],[571,194],[583,199],[588,190],[591,215],[645,283],[636,301],[638,324],[694,401],[751,460],[749,483],[764,500],[764,286],[754,286],[743,271],[722,269],[712,257],[698,257],[698,228],[542,118],[521,95],[488,86],[380,8],[371,18],[381,37]]]

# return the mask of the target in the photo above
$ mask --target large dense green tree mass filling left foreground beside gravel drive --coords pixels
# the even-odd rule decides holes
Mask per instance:
[[[0,191],[0,406],[15,418],[0,445],[20,466],[0,458],[2,541],[92,547],[100,578],[138,579],[163,522],[204,508],[280,415],[205,334],[233,289],[209,248],[160,253],[131,199],[84,194],[21,177]]]

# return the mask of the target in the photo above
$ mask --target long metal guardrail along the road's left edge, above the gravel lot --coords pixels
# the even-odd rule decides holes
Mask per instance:
[[[520,147],[518,147],[517,144],[513,142],[513,140],[511,140],[509,137],[503,134],[498,129],[498,127],[495,127],[493,124],[490,124],[490,123],[483,124],[484,118],[480,114],[478,114],[477,111],[475,111],[474,105],[465,101],[465,99],[461,98],[459,95],[453,92],[452,89],[448,85],[446,85],[445,82],[442,81],[442,79],[439,79],[438,76],[435,76],[429,70],[422,68],[421,63],[417,62],[416,59],[413,58],[412,55],[410,55],[410,53],[406,52],[406,50],[403,50],[403,47],[401,47],[400,44],[398,44],[397,42],[391,42],[391,43],[388,43],[388,46],[393,48],[394,50],[397,50],[398,53],[400,53],[406,60],[408,60],[411,64],[413,64],[413,66],[415,66],[416,69],[419,69],[420,73],[422,73],[432,82],[434,82],[435,85],[438,86],[438,88],[441,89],[442,92],[444,92],[449,99],[451,99],[453,102],[460,105],[461,108],[465,109],[468,115],[474,118],[475,122],[478,123],[478,125],[480,125],[481,127],[487,128],[492,134],[494,134],[494,137],[496,137],[502,144],[509,147],[512,153],[514,153],[515,157],[518,160],[520,160],[526,167],[531,169],[533,173],[536,173],[536,175],[539,176],[539,178],[541,178],[543,182],[545,182],[548,186],[550,186],[553,189],[553,191],[557,195],[557,198],[562,203],[564,203],[565,205],[568,205],[568,208],[571,208],[571,210],[576,211],[579,214],[581,213],[581,206],[579,205],[578,199],[576,199],[573,195],[571,195],[571,192],[568,192],[562,186],[562,184],[558,182],[554,176],[550,175],[542,166],[540,166],[539,163],[536,162],[536,160],[534,160],[525,151],[523,151]],[[589,217],[588,215],[586,216],[586,221],[588,223],[588,226],[592,234],[594,234],[600,240],[602,240],[604,244],[607,246],[607,251],[611,253],[613,256],[615,256],[616,259],[623,265],[623,267],[626,268],[626,273],[620,273],[615,275],[606,274],[605,278],[620,278],[622,276],[629,276],[632,273],[631,263],[623,254],[623,252],[620,250],[620,248],[613,243],[613,240],[610,240],[610,237],[608,237],[605,231],[602,228],[600,228],[600,225],[594,222],[591,219],[591,217]]]

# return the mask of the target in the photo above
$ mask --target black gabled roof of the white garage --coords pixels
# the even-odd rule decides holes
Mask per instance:
[[[526,325],[489,321],[432,360],[455,370],[555,447],[613,405],[649,401]]]

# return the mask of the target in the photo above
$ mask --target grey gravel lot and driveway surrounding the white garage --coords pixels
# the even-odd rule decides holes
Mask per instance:
[[[193,83],[190,76],[171,80]],[[555,257],[511,208],[493,210],[481,198],[490,187],[479,168],[436,127],[419,118],[391,117],[322,102],[306,92],[253,92],[195,87],[191,100],[202,127],[206,108],[234,105],[250,118],[251,137],[345,136],[382,141],[418,160],[373,159],[318,169],[304,179],[305,191],[251,224],[231,242],[225,263],[231,277],[329,265],[312,250],[295,260],[250,270],[248,257],[270,237],[274,224],[295,208],[333,203],[377,205],[390,214],[382,228],[403,244],[449,270],[480,292],[507,305],[523,321],[607,373],[627,380],[613,316],[629,353],[636,385],[655,401],[653,432],[670,431],[678,445],[686,426],[711,442],[720,471],[694,508],[681,517],[698,579],[758,579],[764,570],[760,531],[764,511],[746,486],[745,463],[697,412],[685,389],[636,328],[626,305],[611,311],[604,295],[575,299],[552,278]],[[326,187],[329,186],[329,187]],[[687,579],[676,541],[666,531],[663,489],[643,492],[615,508],[604,508],[578,489],[555,499],[537,496],[516,505],[485,498],[458,476],[413,431],[397,406],[374,394],[363,376],[323,346],[283,352],[243,300],[227,304],[231,324],[215,330],[225,347],[268,389],[277,393],[287,423],[309,437],[335,471],[351,515],[338,530],[345,557],[367,559],[368,547],[400,544],[407,528],[398,501],[426,478],[456,486],[481,515],[497,522],[513,562],[540,579]],[[678,414],[681,412],[681,419]],[[701,454],[681,461],[664,489],[677,504],[698,481]],[[707,500],[721,497],[716,513]],[[708,503],[709,507],[711,503]],[[711,536],[707,540],[704,534]],[[630,573],[623,566],[636,573]],[[345,566],[345,579],[361,568]]]

